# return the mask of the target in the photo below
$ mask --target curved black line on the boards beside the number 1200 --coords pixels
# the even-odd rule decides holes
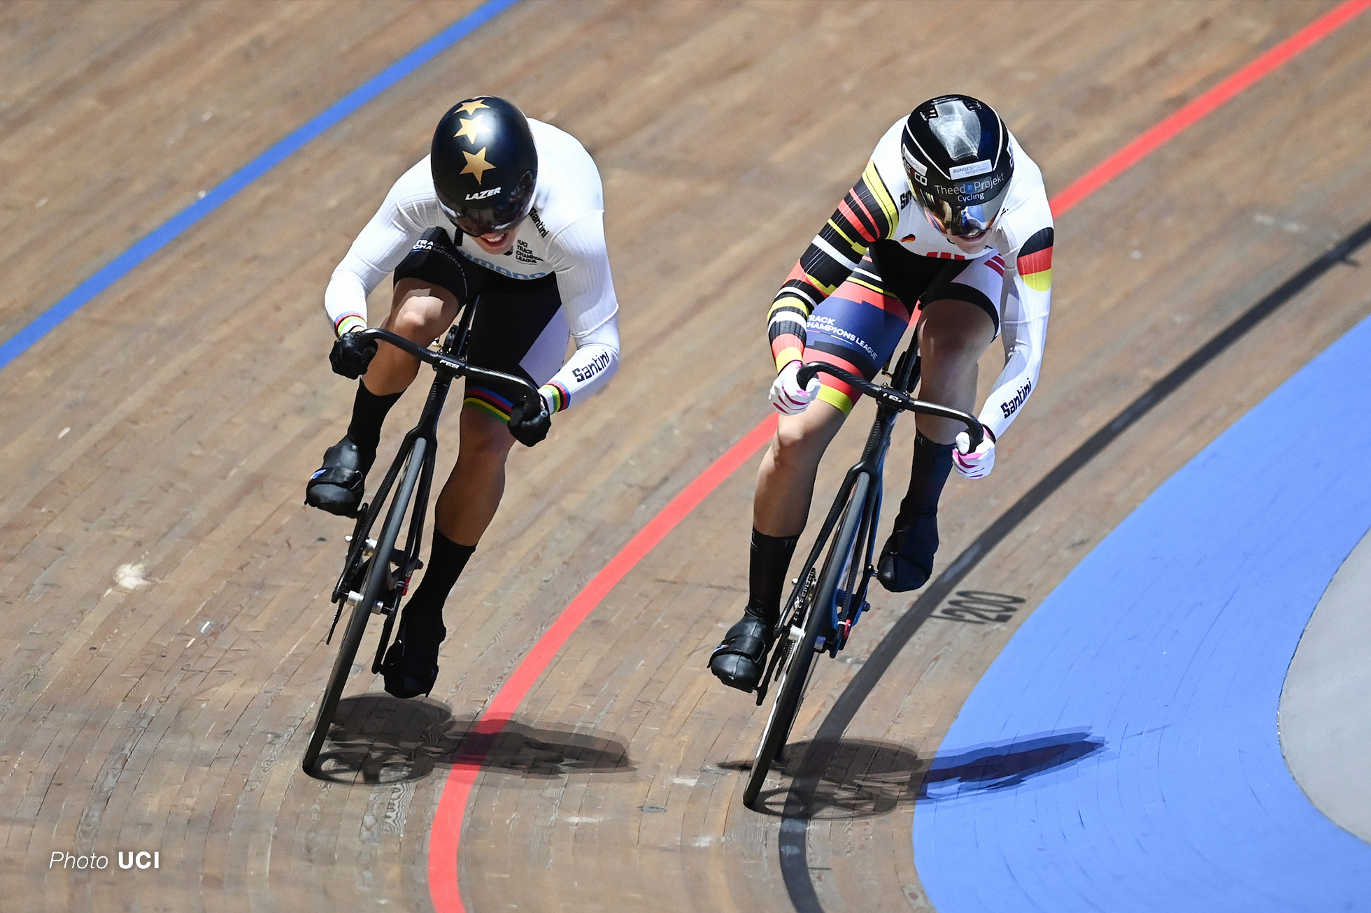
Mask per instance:
[[[891,664],[894,664],[899,651],[914,636],[914,632],[923,626],[942,600],[956,589],[957,584],[980,563],[980,559],[1004,541],[1028,514],[1047,500],[1067,480],[1137,424],[1153,406],[1174,393],[1205,365],[1246,336],[1252,328],[1270,317],[1282,304],[1312,285],[1320,276],[1338,263],[1360,266],[1356,260],[1350,259],[1350,255],[1368,240],[1371,240],[1371,222],[1348,234],[1326,254],[1312,260],[1302,270],[1281,284],[1279,288],[1219,330],[1208,343],[1196,350],[1190,358],[1176,365],[1171,373],[1149,387],[1138,399],[1128,403],[1123,411],[1080,444],[1080,447],[1071,451],[1065,459],[1053,466],[1036,485],[1028,489],[1009,510],[990,524],[975,541],[967,546],[947,569],[905,610],[905,614],[899,617],[899,621],[890,629],[890,633],[876,644],[871,657],[862,664],[861,669],[853,676],[853,680],[847,683],[847,687],[834,703],[834,709],[828,711],[828,716],[818,725],[818,732],[814,735],[814,740],[810,743],[805,757],[801,758],[790,791],[786,795],[786,809],[781,813],[783,820],[777,840],[780,872],[786,880],[786,891],[790,894],[790,902],[799,913],[824,913],[824,908],[818,902],[818,894],[814,891],[814,881],[809,875],[809,854],[806,847],[809,816],[814,807],[814,795],[818,790],[820,777],[828,769],[838,743],[847,725],[853,721],[853,717],[857,716],[857,710],[861,709],[866,696],[876,687],[876,683],[880,681],[880,677],[886,674]]]

